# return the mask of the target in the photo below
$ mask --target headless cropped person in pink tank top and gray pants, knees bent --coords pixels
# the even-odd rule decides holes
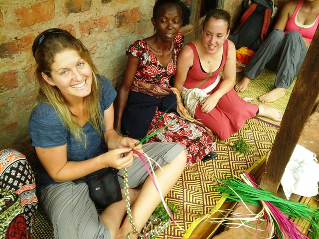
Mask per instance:
[[[262,72],[267,62],[271,62],[276,67],[274,69],[268,65],[266,67],[277,71],[275,88],[260,96],[259,101],[270,103],[285,96],[304,62],[318,27],[318,14],[319,0],[287,2],[281,10],[274,31],[269,34],[251,62],[244,68],[245,77],[235,86],[235,90],[245,91],[251,79]]]

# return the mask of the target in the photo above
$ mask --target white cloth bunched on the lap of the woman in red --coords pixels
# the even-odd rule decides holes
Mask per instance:
[[[210,96],[207,93],[211,92],[217,86],[217,84],[220,81],[220,78],[221,75],[219,74],[215,82],[205,89],[186,89],[185,87],[183,87],[181,97],[184,99],[185,108],[192,118],[194,118],[197,104],[205,100],[208,96]]]

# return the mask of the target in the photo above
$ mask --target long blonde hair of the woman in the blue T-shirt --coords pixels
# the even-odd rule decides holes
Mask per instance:
[[[55,30],[50,31],[49,29],[39,34],[32,46],[33,56],[37,63],[36,77],[40,85],[36,104],[44,102],[52,105],[70,133],[74,135],[77,141],[83,142],[86,145],[86,135],[81,126],[74,120],[69,103],[56,86],[49,85],[43,79],[41,72],[51,78],[51,65],[54,62],[54,56],[66,49],[77,51],[80,57],[88,62],[92,69],[93,81],[91,93],[84,100],[84,110],[89,116],[89,122],[102,136],[104,122],[99,110],[101,92],[99,80],[97,79],[98,70],[91,59],[89,51],[80,40],[63,29],[53,29]]]

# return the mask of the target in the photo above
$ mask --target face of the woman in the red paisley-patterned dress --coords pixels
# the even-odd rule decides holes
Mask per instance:
[[[156,18],[152,18],[152,23],[156,28],[156,35],[164,41],[174,40],[182,24],[181,13],[179,6],[161,6]]]

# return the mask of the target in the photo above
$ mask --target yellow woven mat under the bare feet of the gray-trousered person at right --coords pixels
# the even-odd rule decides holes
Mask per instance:
[[[236,84],[244,77],[244,73],[240,72],[236,74]],[[270,71],[268,69],[264,69],[262,74],[260,74],[256,79],[252,80],[251,83],[248,85],[247,89],[242,92],[238,93],[238,95],[243,98],[243,97],[252,97],[255,100],[252,102],[253,104],[258,104],[258,105],[265,105],[265,106],[270,106],[274,107],[278,110],[280,110],[282,113],[285,112],[285,109],[287,107],[289,98],[291,96],[291,93],[294,89],[294,85],[296,82],[296,79],[294,80],[293,84],[291,87],[287,90],[286,95],[283,98],[280,98],[276,102],[273,103],[261,103],[258,100],[258,97],[261,95],[271,91],[274,89],[274,83],[275,83],[275,77],[276,73],[273,71]],[[259,117],[260,119],[263,119],[267,122],[280,125],[280,122],[265,118],[265,117]]]

